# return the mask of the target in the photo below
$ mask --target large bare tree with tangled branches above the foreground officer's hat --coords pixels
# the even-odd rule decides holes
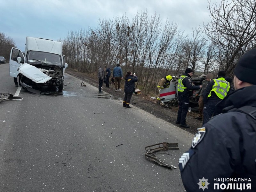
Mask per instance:
[[[218,49],[219,68],[233,74],[237,59],[256,45],[256,1],[208,0],[211,21],[204,24],[205,34]]]

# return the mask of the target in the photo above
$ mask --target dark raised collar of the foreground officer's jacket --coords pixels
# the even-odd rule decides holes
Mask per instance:
[[[246,105],[256,107],[256,85],[238,89],[225,97],[216,105],[215,112],[220,114],[223,108],[234,106],[240,108]]]

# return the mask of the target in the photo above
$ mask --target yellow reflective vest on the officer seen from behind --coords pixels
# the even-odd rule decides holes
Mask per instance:
[[[224,99],[230,89],[229,82],[227,82],[223,77],[220,77],[219,79],[213,79],[213,81],[214,85],[212,86],[212,90],[209,93],[208,98],[211,97],[213,91],[220,99]]]

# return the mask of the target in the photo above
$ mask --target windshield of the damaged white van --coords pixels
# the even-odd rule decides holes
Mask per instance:
[[[60,55],[40,51],[30,51],[28,52],[28,64],[33,63],[60,66]]]

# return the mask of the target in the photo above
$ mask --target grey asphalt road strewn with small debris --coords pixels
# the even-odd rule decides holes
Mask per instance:
[[[81,87],[76,77],[66,74],[64,84],[63,95],[21,89],[22,101],[0,103],[1,192],[185,191],[179,168],[147,161],[144,147],[178,143],[180,150],[168,152],[173,156],[159,156],[178,167],[191,133],[125,109],[122,100]],[[0,92],[16,90],[9,64],[1,64]]]

